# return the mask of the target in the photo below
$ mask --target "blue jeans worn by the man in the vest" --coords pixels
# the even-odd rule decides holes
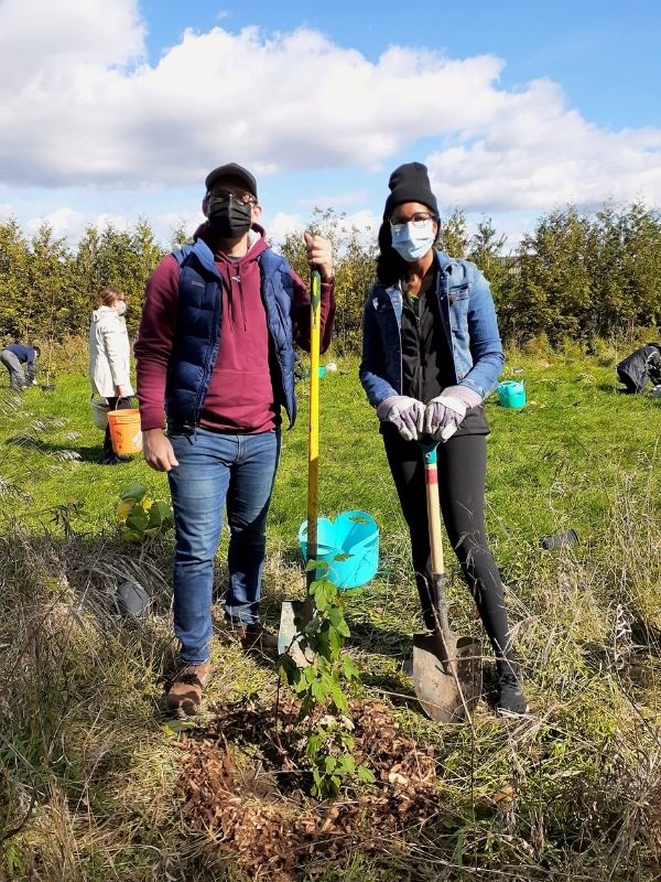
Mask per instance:
[[[186,664],[209,657],[214,558],[227,507],[227,615],[257,621],[267,514],[280,458],[280,431],[225,434],[197,428],[171,434],[178,465],[169,472],[175,521],[174,633]]]

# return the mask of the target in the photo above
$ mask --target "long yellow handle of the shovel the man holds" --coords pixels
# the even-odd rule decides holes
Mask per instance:
[[[307,421],[307,560],[317,556],[317,517],[319,512],[319,348],[322,277],[312,270],[310,280],[310,417]],[[307,584],[316,571],[307,572]]]

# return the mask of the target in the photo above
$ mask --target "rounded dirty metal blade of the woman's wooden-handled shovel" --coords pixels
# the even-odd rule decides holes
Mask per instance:
[[[481,644],[452,633],[413,635],[413,686],[435,722],[460,723],[481,693]]]

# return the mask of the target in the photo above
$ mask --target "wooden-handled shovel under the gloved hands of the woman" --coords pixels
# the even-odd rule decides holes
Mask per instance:
[[[446,439],[447,440],[447,439]],[[435,722],[459,723],[470,717],[481,693],[481,642],[457,637],[447,622],[436,441],[419,441],[424,456],[432,584],[433,634],[413,635],[413,686],[424,712]]]

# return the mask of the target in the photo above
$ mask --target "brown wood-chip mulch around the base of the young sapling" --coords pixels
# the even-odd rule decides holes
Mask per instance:
[[[208,727],[182,736],[184,818],[212,832],[252,878],[288,880],[313,856],[338,859],[358,843],[382,851],[390,840],[398,851],[405,830],[420,835],[438,813],[433,749],[380,703],[354,701],[349,710],[353,754],[376,777],[354,798],[318,803],[307,795],[312,775],[293,702],[277,711],[246,701],[219,706]]]

